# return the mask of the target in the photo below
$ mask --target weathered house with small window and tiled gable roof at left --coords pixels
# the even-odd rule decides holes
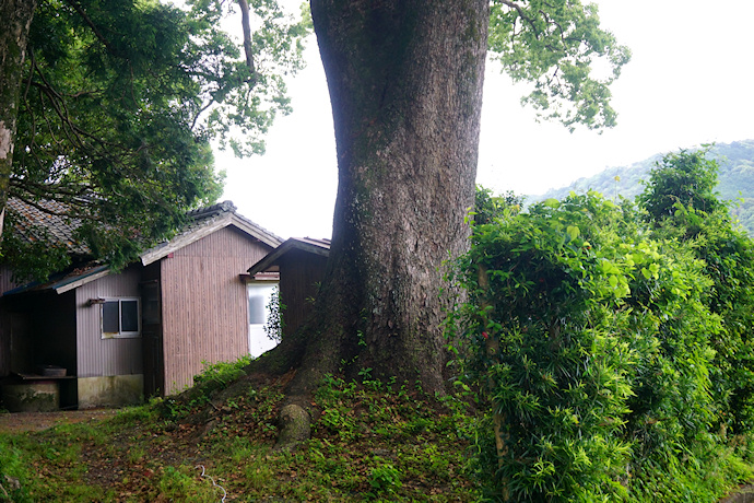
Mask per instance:
[[[70,238],[70,223],[23,211]],[[14,285],[0,271],[0,377],[33,378],[54,365],[67,373],[61,406],[120,406],[180,391],[205,363],[248,354],[249,284],[269,288],[276,276],[245,271],[281,238],[229,201],[189,220],[117,273],[85,262],[45,284]]]

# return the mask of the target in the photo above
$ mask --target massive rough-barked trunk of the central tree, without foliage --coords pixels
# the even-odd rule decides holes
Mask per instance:
[[[427,390],[446,361],[440,267],[467,249],[486,0],[311,0],[339,188],[299,384],[372,369]]]

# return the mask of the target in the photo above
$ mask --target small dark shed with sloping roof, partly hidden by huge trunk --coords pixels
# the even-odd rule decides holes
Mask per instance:
[[[249,277],[280,274],[280,302],[285,305],[283,337],[295,332],[310,314],[329,255],[329,239],[291,237],[249,268]]]

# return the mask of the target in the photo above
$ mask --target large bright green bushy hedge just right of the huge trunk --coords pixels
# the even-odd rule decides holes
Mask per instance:
[[[714,428],[714,282],[637,214],[572,194],[473,226],[456,276],[469,299],[448,332],[488,410],[475,466],[491,496],[651,501],[651,487],[682,501],[741,475],[697,468],[740,465]]]

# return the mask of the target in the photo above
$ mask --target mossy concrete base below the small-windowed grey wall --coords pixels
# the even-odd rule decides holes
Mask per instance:
[[[79,409],[132,406],[143,397],[142,374],[79,377]]]

